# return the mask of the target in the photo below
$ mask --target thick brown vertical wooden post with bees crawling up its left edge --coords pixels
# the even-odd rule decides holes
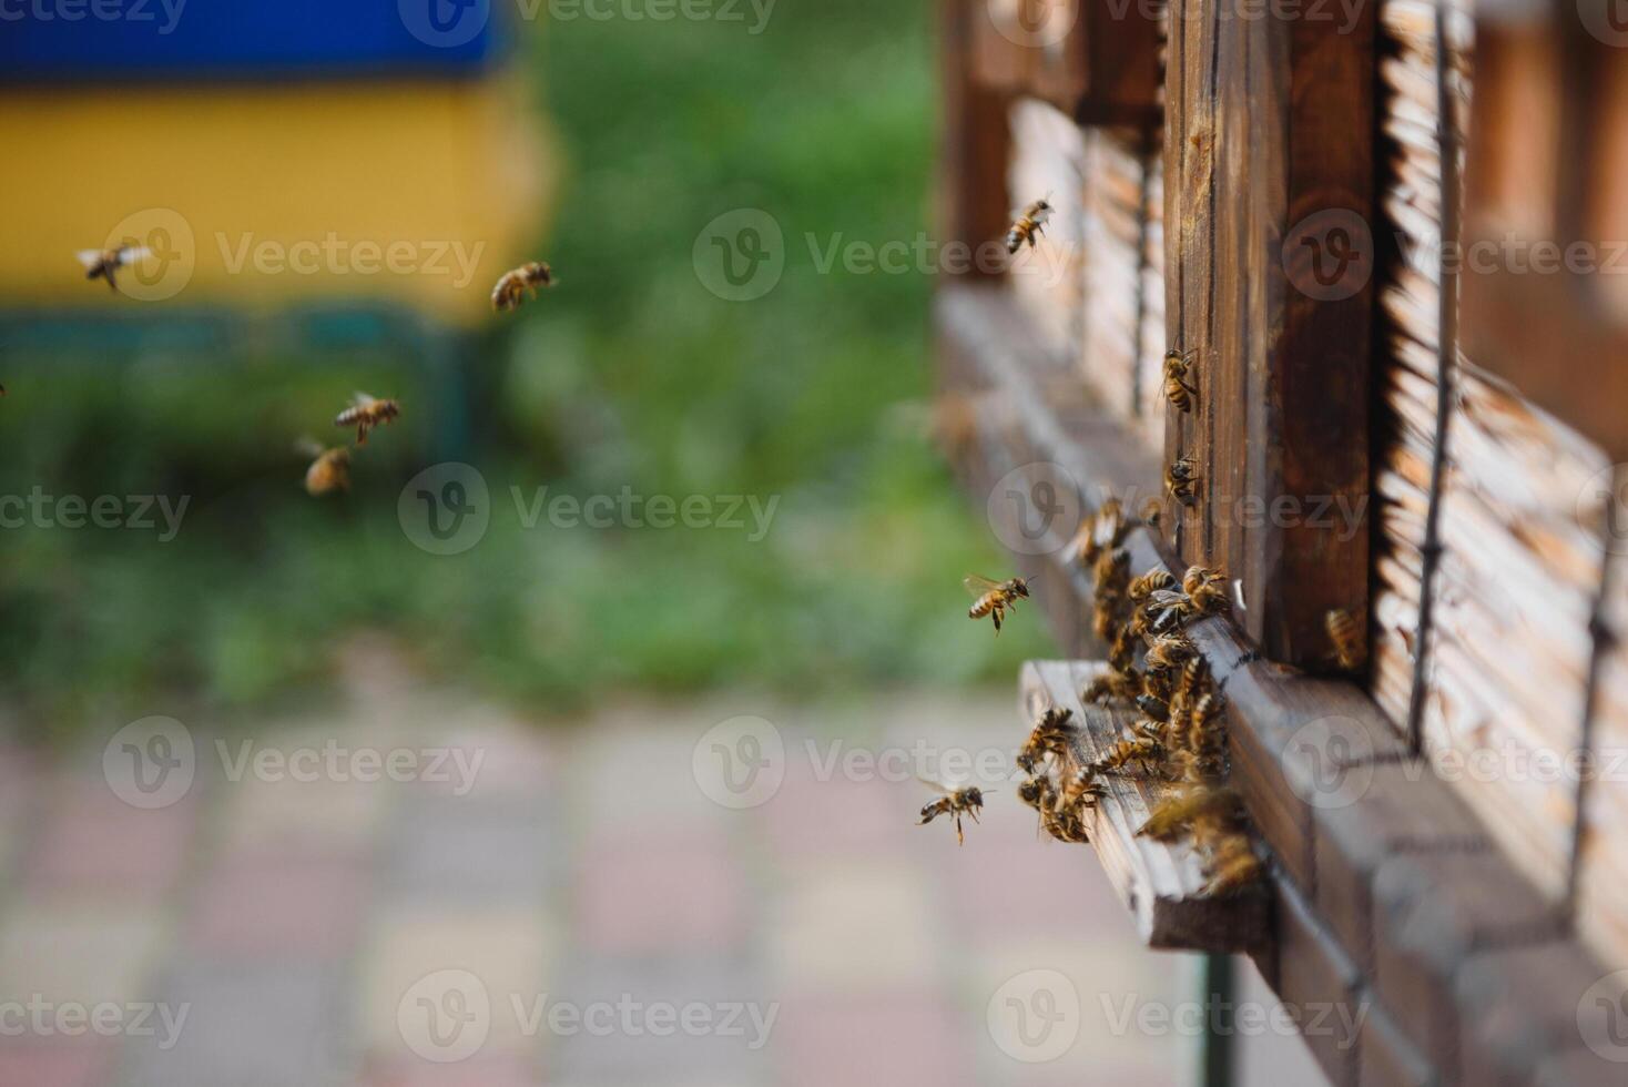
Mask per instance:
[[[1166,68],[1166,312],[1200,392],[1167,415],[1167,461],[1200,474],[1169,544],[1239,579],[1241,625],[1302,667],[1328,610],[1368,605],[1374,316],[1377,3],[1314,11],[1175,5]]]

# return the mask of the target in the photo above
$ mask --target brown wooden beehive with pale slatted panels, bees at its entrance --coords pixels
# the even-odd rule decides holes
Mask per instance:
[[[1008,164],[998,192],[951,174],[951,228],[1073,168],[1081,247],[1066,290],[946,285],[946,381],[1008,420],[962,467],[982,501],[996,465],[1063,465],[1089,511],[1198,465],[1127,547],[1231,576],[1193,638],[1273,854],[1257,963],[1284,999],[1379,1015],[1361,1056],[1319,1053],[1335,1082],[1618,1082],[1578,1002],[1628,962],[1628,288],[1475,262],[1504,238],[1604,262],[1628,226],[1605,7],[1377,0],[1340,26],[1083,7],[1066,80],[1019,47],[951,111],[952,150]],[[977,10],[946,0],[946,24]],[[1197,353],[1192,412],[1161,395],[1172,347]],[[1024,563],[1099,657],[1088,571]],[[1364,631],[1356,662],[1332,609]],[[1366,784],[1328,804],[1307,783],[1335,750]]]

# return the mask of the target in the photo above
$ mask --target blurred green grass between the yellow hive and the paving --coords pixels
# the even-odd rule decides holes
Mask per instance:
[[[547,10],[547,8],[544,8]],[[243,343],[228,358],[16,355],[0,495],[190,495],[177,539],[0,530],[0,659],[29,721],[72,731],[163,713],[177,692],[256,706],[326,683],[352,631],[542,714],[630,688],[819,693],[1009,680],[1044,644],[1000,640],[961,576],[1006,570],[923,428],[933,277],[816,270],[838,234],[930,229],[931,5],[781,0],[749,23],[557,23],[523,39],[563,151],[562,286],[482,343],[469,459],[482,544],[417,550],[397,495],[433,462],[433,389],[389,351],[335,361]],[[690,264],[713,216],[754,207],[786,272],[754,303]],[[402,421],[355,493],[313,501],[290,441],[353,387]],[[322,433],[330,438],[334,431]],[[526,529],[510,488],[780,496],[762,542],[724,529]]]

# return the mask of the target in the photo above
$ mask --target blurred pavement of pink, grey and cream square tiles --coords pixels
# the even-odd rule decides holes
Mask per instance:
[[[700,742],[737,714],[783,752],[726,737],[783,775],[751,807],[711,799]],[[565,729],[386,675],[314,722],[189,724],[194,781],[150,810],[106,736],[0,752],[0,1087],[1187,1082],[1193,1041],[1118,1009],[1184,999],[1192,962],[1136,945],[1088,851],[1009,788],[957,848],[913,825],[920,752],[829,762],[1009,745],[1009,698]],[[244,740],[269,762],[234,773]],[[423,779],[444,747],[472,783]]]

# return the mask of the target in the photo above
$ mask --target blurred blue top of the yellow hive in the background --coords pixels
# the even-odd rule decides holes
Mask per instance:
[[[0,0],[0,80],[475,73],[513,0]]]

